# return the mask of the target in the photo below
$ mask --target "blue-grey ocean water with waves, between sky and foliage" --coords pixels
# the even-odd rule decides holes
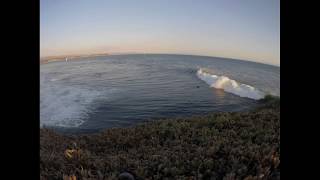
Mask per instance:
[[[40,66],[40,125],[66,133],[246,111],[280,96],[280,68],[190,55],[112,55]]]

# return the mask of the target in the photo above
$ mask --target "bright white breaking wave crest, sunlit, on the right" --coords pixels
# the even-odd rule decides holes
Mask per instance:
[[[223,89],[226,92],[238,95],[240,97],[247,97],[251,99],[262,99],[265,94],[252,86],[247,84],[238,83],[235,80],[232,80],[226,76],[217,76],[214,74],[210,74],[204,69],[200,68],[197,71],[197,76],[205,81],[210,87],[214,87],[217,89]]]

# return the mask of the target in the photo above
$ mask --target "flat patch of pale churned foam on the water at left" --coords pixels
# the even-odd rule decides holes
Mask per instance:
[[[97,100],[108,99],[114,90],[96,90],[80,85],[58,83],[42,74],[40,126],[79,127],[92,112],[94,103]]]

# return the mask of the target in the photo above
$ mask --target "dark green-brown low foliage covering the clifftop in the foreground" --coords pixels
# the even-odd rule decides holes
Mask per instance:
[[[280,99],[251,112],[150,122],[90,135],[40,129],[40,177],[280,179]],[[67,149],[75,150],[67,157]]]

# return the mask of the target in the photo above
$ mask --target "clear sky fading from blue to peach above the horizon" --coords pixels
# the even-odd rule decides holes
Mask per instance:
[[[40,56],[91,53],[280,66],[280,0],[40,0]]]

